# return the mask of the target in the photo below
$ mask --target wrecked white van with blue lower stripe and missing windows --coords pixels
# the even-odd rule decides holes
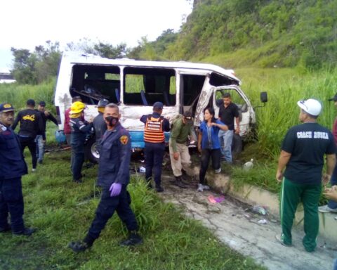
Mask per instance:
[[[234,152],[238,152],[242,148],[242,139],[256,122],[253,106],[240,84],[233,70],[216,65],[108,59],[65,52],[55,88],[55,106],[62,130],[65,110],[70,108],[73,96],[81,96],[86,103],[84,114],[87,120],[98,114],[97,103],[106,98],[119,105],[121,124],[131,134],[131,147],[143,148],[144,124],[139,119],[152,113],[156,101],[164,103],[163,115],[170,120],[190,110],[197,128],[204,119],[204,108],[213,107],[218,116],[219,101],[225,92],[229,92],[232,101],[239,106],[240,134],[233,139]],[[266,96],[261,101],[265,102]],[[168,139],[169,133],[166,141]],[[97,160],[94,141],[88,142],[88,158]]]

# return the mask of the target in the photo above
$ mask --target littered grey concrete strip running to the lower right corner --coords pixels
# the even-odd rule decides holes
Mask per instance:
[[[171,184],[172,174],[164,172],[162,182],[164,193],[160,196],[167,202],[182,207],[188,217],[201,221],[204,226],[226,245],[243,255],[253,257],[259,264],[271,270],[331,270],[333,259],[337,257],[337,243],[318,238],[317,250],[306,252],[302,245],[302,228],[293,229],[293,246],[284,247],[275,236],[281,227],[278,217],[263,216],[252,211],[250,205],[239,203],[225,195],[221,203],[210,203],[209,196],[220,195],[212,191],[198,193],[197,181],[190,179],[188,188],[182,189]],[[259,224],[262,219],[266,224]]]

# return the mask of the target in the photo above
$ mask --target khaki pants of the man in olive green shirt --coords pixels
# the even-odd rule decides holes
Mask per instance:
[[[188,175],[194,175],[194,171],[191,169],[191,156],[188,153],[188,147],[183,143],[176,143],[177,151],[179,153],[179,159],[175,160],[173,158],[173,148],[171,145],[171,139],[169,141],[170,159],[171,167],[174,176],[181,176],[181,169],[184,169]]]

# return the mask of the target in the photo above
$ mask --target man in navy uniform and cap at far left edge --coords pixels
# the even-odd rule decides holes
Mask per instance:
[[[14,111],[11,104],[0,104],[0,233],[12,231],[15,235],[30,236],[35,230],[25,227],[22,218],[21,176],[27,174],[27,165],[18,137],[11,129]]]

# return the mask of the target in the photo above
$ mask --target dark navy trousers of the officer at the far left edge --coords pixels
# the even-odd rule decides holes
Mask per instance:
[[[11,228],[13,232],[23,231],[23,198],[21,177],[0,179],[0,227],[8,227],[8,213],[11,214]]]

